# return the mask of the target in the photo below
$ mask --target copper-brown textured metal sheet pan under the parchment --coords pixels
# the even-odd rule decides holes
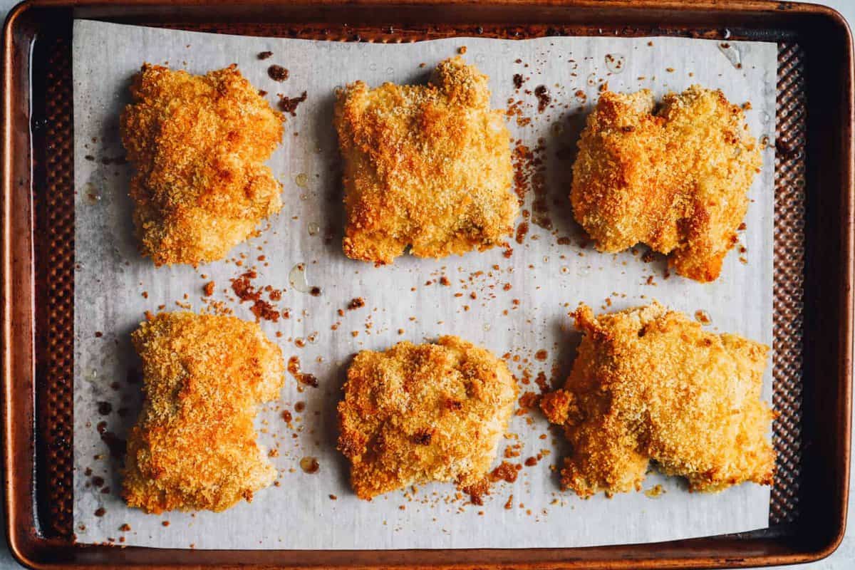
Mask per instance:
[[[75,545],[74,17],[335,41],[603,34],[776,42],[773,403],[779,461],[769,529],[582,549]],[[10,13],[3,58],[3,483],[9,545],[28,566],[746,567],[817,560],[840,543],[852,407],[853,101],[852,38],[833,10],[714,0],[33,0]]]

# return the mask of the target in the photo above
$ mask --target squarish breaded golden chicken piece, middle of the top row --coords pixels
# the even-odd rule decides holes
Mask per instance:
[[[445,257],[505,243],[518,211],[510,132],[475,67],[454,57],[428,85],[347,85],[335,125],[347,256],[380,265],[408,245],[415,256]]]

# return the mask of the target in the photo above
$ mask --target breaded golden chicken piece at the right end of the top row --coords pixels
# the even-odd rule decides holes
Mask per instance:
[[[600,251],[643,242],[677,273],[715,280],[760,171],[757,140],[722,91],[692,85],[653,109],[648,90],[600,96],[573,165],[575,219]]]

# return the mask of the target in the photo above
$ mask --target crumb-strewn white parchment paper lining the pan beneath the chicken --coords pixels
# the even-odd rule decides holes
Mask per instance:
[[[262,51],[274,55],[262,61],[257,57]],[[437,62],[461,51],[491,77],[493,105],[522,112],[509,118],[515,140],[530,149],[542,140],[543,150],[535,155],[545,168],[552,229],[532,223],[522,244],[510,241],[510,257],[495,249],[438,261],[402,257],[391,267],[347,259],[340,247],[340,164],[331,124],[335,88],[356,79],[369,85],[423,82]],[[356,44],[75,21],[73,57],[74,524],[79,542],[202,549],[575,547],[768,525],[769,489],[758,485],[716,495],[689,493],[680,479],[651,473],[645,489],[661,485],[663,492],[588,500],[562,493],[551,466],[566,450],[540,414],[515,416],[499,453],[522,444],[522,455],[508,461],[522,463],[542,450],[550,455],[522,467],[515,484],[495,485],[482,506],[456,497],[451,485],[424,485],[359,501],[335,450],[334,408],[347,363],[358,350],[440,334],[457,334],[507,354],[511,371],[529,382],[522,391],[538,390],[538,373],[563,382],[578,343],[567,313],[580,302],[617,310],[655,298],[687,314],[705,311],[711,330],[771,344],[775,44],[687,38]],[[139,256],[118,115],[142,62],[168,63],[192,73],[235,62],[253,85],[268,91],[271,103],[277,94],[299,97],[306,91],[296,116],[287,116],[283,144],[268,162],[285,186],[285,207],[227,261],[197,269],[155,268]],[[270,79],[272,64],[287,68],[289,79]],[[527,78],[519,90],[516,73]],[[572,220],[567,195],[575,143],[604,82],[615,91],[647,87],[657,96],[699,83],[721,88],[734,103],[752,103],[746,111],[751,132],[768,138],[769,145],[750,192],[747,229],[715,283],[668,277],[664,258],[645,256],[643,247],[598,254]],[[551,96],[543,112],[534,94],[539,85]],[[529,191],[526,209],[533,199]],[[306,285],[320,287],[319,296],[300,279],[296,287],[290,282],[289,275],[298,277],[292,269],[300,263],[306,267]],[[252,319],[250,303],[239,303],[229,289],[230,279],[249,267],[257,269],[255,285],[285,290],[274,304],[287,309],[290,318],[262,321],[262,327],[286,358],[298,356],[304,372],[319,380],[311,388],[289,375],[280,401],[259,414],[260,441],[278,452],[271,460],[280,472],[278,486],[221,514],[153,515],[127,508],[119,497],[120,460],[110,448],[121,447],[139,411],[139,361],[129,333],[146,310],[210,309],[211,298]],[[442,285],[443,276],[449,285]],[[216,284],[215,296],[203,297],[209,281]],[[365,306],[346,310],[354,297],[363,297]],[[280,336],[274,336],[277,332]],[[547,352],[545,359],[535,356],[539,350]],[[767,400],[770,393],[767,369]],[[295,410],[297,403],[304,403],[303,413]],[[294,416],[291,426],[282,420],[283,410]],[[304,457],[317,459],[317,473],[304,473]]]

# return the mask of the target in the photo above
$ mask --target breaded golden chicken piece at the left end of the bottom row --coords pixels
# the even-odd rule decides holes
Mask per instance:
[[[132,340],[145,401],[127,439],[127,504],[160,513],[251,501],[276,478],[253,420],[279,395],[280,348],[257,323],[187,312],[157,314]]]

